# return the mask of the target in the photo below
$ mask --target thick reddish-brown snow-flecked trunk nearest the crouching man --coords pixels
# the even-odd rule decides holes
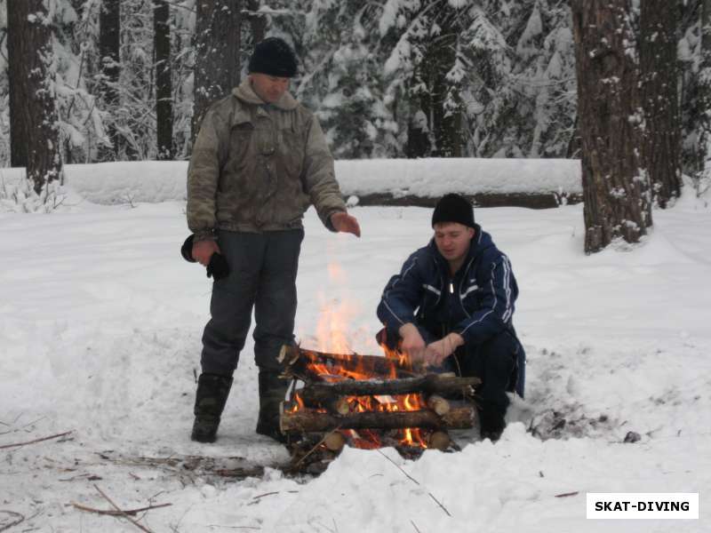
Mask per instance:
[[[651,226],[628,0],[573,0],[585,251],[636,243]]]

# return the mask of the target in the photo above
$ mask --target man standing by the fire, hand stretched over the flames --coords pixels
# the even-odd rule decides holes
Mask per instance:
[[[257,433],[284,442],[279,403],[287,382],[276,361],[294,341],[296,273],[304,211],[313,204],[331,231],[360,236],[348,215],[333,158],[316,117],[287,91],[297,60],[284,40],[257,44],[249,76],[204,116],[188,168],[192,256],[207,266],[213,253],[229,274],[212,285],[203,334],[191,438],[214,442],[232,375],[250,329],[260,369]]]

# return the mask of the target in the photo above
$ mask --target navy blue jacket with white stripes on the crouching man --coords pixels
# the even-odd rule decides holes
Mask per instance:
[[[426,342],[452,331],[467,345],[481,344],[503,330],[515,334],[511,317],[518,286],[511,263],[491,235],[479,225],[475,232],[467,258],[453,277],[433,239],[390,278],[378,306],[389,338],[397,338],[406,322],[416,324]]]

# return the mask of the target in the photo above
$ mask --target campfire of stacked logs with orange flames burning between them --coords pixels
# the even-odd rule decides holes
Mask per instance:
[[[426,374],[403,354],[387,351],[383,357],[284,346],[280,360],[284,375],[303,383],[292,387],[280,420],[295,455],[320,448],[333,456],[348,443],[393,446],[416,457],[427,448],[450,449],[448,430],[473,424],[473,403],[455,405],[445,397],[471,398],[478,378]]]

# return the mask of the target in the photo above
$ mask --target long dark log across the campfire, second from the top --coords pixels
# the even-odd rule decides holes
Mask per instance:
[[[384,359],[380,357],[379,359]],[[328,405],[334,398],[343,396],[372,396],[386,394],[457,394],[469,393],[471,387],[481,383],[479,378],[457,378],[427,374],[418,378],[400,379],[348,379],[336,383],[308,383],[298,391],[301,400],[308,406]],[[449,409],[449,403],[442,397],[432,396],[433,408],[438,415]],[[340,414],[345,414],[338,410]]]

